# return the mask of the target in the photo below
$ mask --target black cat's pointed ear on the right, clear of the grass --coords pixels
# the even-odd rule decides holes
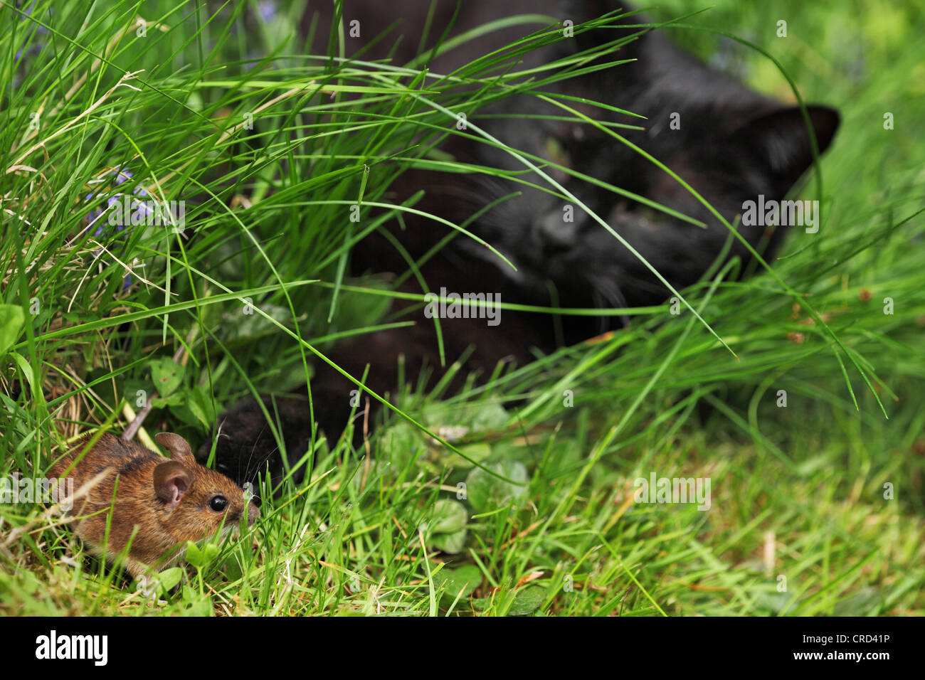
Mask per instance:
[[[821,155],[832,143],[841,118],[829,106],[808,105],[807,113]],[[782,196],[812,165],[807,124],[798,106],[756,118],[738,130],[736,137],[748,151],[766,160]]]

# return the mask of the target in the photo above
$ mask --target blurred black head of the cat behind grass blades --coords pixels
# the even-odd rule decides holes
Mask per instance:
[[[647,39],[648,40],[648,39]],[[748,201],[782,201],[812,163],[806,123],[796,107],[779,105],[713,72],[659,38],[637,50],[647,63],[611,69],[606,79],[573,83],[573,93],[635,111],[645,130],[616,130],[627,142],[644,149],[672,169],[712,205],[747,241],[771,256],[783,229],[743,224]],[[654,46],[652,46],[654,45]],[[664,65],[670,66],[666,68]],[[536,113],[536,102],[527,102]],[[502,103],[517,110],[524,102]],[[548,113],[556,112],[549,107]],[[591,110],[588,109],[588,113]],[[599,109],[595,112],[600,116]],[[819,153],[828,148],[838,127],[837,112],[809,106],[808,116]],[[697,281],[709,268],[729,235],[722,222],[685,186],[629,145],[587,124],[487,118],[485,128],[515,149],[542,156],[591,178],[619,187],[677,211],[703,228],[666,214],[657,207],[595,186],[555,167],[550,178],[571,192],[577,202],[523,184],[472,175],[454,192],[460,214],[471,214],[513,191],[523,194],[499,204],[475,231],[517,266],[499,260],[499,270],[536,297],[547,295],[549,281],[563,303],[573,306],[639,306],[661,303],[669,291],[623,243],[588,215],[585,204],[611,229],[659,270],[675,288]],[[475,162],[523,170],[512,155],[492,146],[465,153]],[[556,190],[536,173],[522,179]],[[739,221],[737,221],[737,219]],[[465,244],[470,253],[492,257],[486,249]],[[732,254],[746,257],[735,241]]]

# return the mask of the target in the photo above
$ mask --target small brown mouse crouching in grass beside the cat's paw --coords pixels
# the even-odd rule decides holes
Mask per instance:
[[[110,563],[125,550],[138,527],[124,560],[135,578],[151,566],[159,571],[176,563],[188,540],[212,536],[223,519],[223,534],[237,528],[245,507],[248,525],[260,516],[242,488],[227,476],[196,463],[186,440],[171,432],[154,437],[170,451],[171,458],[105,433],[68,471],[91,436],[81,439],[56,461],[50,475],[72,477],[76,495],[84,484],[102,475],[86,496],[74,501],[68,513],[70,522],[93,553],[105,556]],[[104,550],[110,507],[112,520]]]

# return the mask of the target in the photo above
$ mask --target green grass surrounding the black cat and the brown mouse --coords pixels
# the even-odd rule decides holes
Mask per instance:
[[[407,386],[369,455],[315,439],[307,480],[247,537],[166,573],[185,586],[161,601],[81,559],[43,507],[0,506],[0,612],[925,611],[925,70],[910,49],[925,16],[912,2],[716,5],[683,21],[707,31],[667,30],[793,101],[771,60],[716,31],[739,35],[804,101],[843,114],[820,232],[792,233],[773,275],[734,282],[726,268],[683,291],[705,323],[665,305],[461,394]],[[414,210],[376,205],[392,205],[402,167],[447,162],[429,149],[456,133],[456,110],[554,72],[499,80],[476,63],[455,74],[484,84],[474,96],[415,69],[304,56],[298,7],[245,26],[255,4],[56,3],[48,19],[49,6],[30,19],[0,3],[3,475],[42,476],[79,433],[121,432],[139,389],[160,392],[142,440],[167,429],[195,445],[222,408],[304,385],[339,338],[410,323],[386,315],[382,280],[345,277],[349,248]],[[132,172],[120,189],[117,167]],[[87,229],[136,182],[185,200],[195,237]],[[709,511],[636,504],[652,472],[709,477]]]

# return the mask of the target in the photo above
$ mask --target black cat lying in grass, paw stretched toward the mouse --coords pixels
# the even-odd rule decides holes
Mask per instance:
[[[314,51],[324,54],[332,17],[322,11],[306,14],[305,28],[314,25]],[[358,20],[362,39],[346,41],[347,56],[360,53],[371,60],[390,56],[403,64],[417,56],[428,2],[346,2],[345,26]],[[585,31],[580,24],[611,12],[615,3],[592,1],[505,2],[467,0],[459,10],[455,0],[440,0],[432,20],[427,46],[449,28],[457,35],[490,19],[516,14],[545,13],[571,21],[573,36],[563,37],[522,56],[520,69],[548,64],[555,59],[593,50],[619,37],[635,40],[619,50],[598,57],[599,61],[635,59],[629,63],[578,75],[550,84],[550,93],[562,93],[601,102],[635,112],[645,119],[627,117],[609,109],[569,100],[589,117],[604,122],[641,125],[644,130],[617,131],[628,142],[645,149],[672,168],[704,196],[730,223],[743,212],[748,200],[780,201],[812,164],[811,146],[804,118],[796,107],[783,106],[755,93],[722,73],[708,68],[693,56],[677,49],[659,31],[627,27],[644,23],[640,15],[608,22],[608,27]],[[458,11],[457,11],[458,10]],[[401,26],[385,39],[366,43],[389,24],[401,18]],[[568,24],[563,24],[568,25]],[[509,27],[434,59],[425,57],[433,73],[449,73],[478,56],[499,49],[524,35],[548,28],[549,23]],[[397,38],[401,40],[397,41]],[[361,52],[362,51],[362,52]],[[425,52],[426,54],[426,52]],[[419,65],[423,66],[423,64]],[[579,103],[575,103],[578,101]],[[503,114],[507,117],[491,117]],[[544,104],[532,95],[507,97],[470,117],[489,134],[528,153],[548,158],[586,176],[619,187],[631,196],[602,189],[567,173],[549,169],[582,204],[603,218],[672,283],[675,289],[697,282],[713,264],[729,237],[729,230],[675,179],[629,145],[618,142],[595,126],[510,117],[512,114],[563,115],[561,109]],[[808,107],[819,152],[828,148],[838,128],[836,111],[826,106]],[[449,124],[448,124],[449,126]],[[524,165],[495,146],[471,137],[451,135],[442,150],[457,160],[476,166],[523,171]],[[521,179],[548,186],[536,173]],[[630,253],[596,220],[572,205],[567,221],[568,201],[549,192],[485,174],[441,174],[414,170],[403,173],[392,186],[397,199],[421,189],[425,198],[417,208],[461,224],[502,196],[522,192],[480,216],[469,229],[494,246],[516,266],[514,270],[496,254],[465,237],[457,237],[421,268],[429,291],[441,288],[456,292],[484,292],[499,295],[502,303],[542,306],[625,308],[662,303],[669,290],[638,257]],[[702,222],[698,227],[667,215],[632,196],[645,197],[662,206]],[[406,229],[390,225],[395,237],[415,258],[421,257],[446,236],[449,229],[429,220],[405,219]],[[783,229],[741,225],[749,243],[763,248],[771,257],[783,237]],[[739,242],[729,256],[747,261],[749,255]],[[374,234],[354,248],[351,270],[404,272],[408,265],[401,253],[381,234]],[[407,278],[402,290],[422,291],[416,278]],[[498,298],[495,298],[498,299]],[[411,307],[409,307],[411,308]],[[432,322],[424,318],[420,305],[413,307],[413,328],[383,331],[339,346],[329,356],[354,377],[370,364],[366,384],[383,393],[396,385],[397,357],[406,358],[406,373],[414,376],[425,363],[438,365],[437,338]],[[542,352],[555,349],[557,336],[552,315],[503,311],[497,327],[486,319],[441,319],[446,356],[454,360],[468,347],[475,347],[467,368],[491,370],[499,361],[529,361],[531,348]],[[560,340],[571,344],[615,328],[625,320],[609,316],[567,316],[561,319]],[[349,413],[350,391],[355,386],[339,374],[319,366],[313,379],[315,419],[328,435],[339,434]],[[312,423],[304,399],[265,400],[274,419],[279,419],[290,459],[302,455],[308,446]],[[256,402],[245,402],[221,418],[222,436],[216,444],[218,466],[243,483],[254,481],[270,465],[274,479],[283,472],[277,443],[266,427],[265,416]],[[205,454],[211,442],[203,444]],[[298,478],[298,476],[297,476]]]

